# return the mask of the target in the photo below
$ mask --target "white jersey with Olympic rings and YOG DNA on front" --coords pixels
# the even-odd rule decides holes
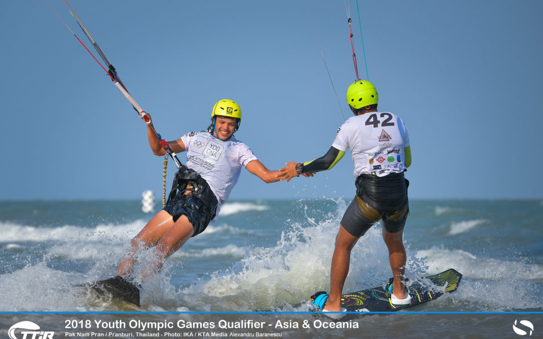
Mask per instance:
[[[249,146],[232,136],[221,140],[210,132],[190,132],[181,137],[187,150],[186,166],[205,179],[217,197],[225,203],[239,179],[241,168],[256,160]]]

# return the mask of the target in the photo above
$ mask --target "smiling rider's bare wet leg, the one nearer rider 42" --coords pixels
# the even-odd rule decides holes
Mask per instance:
[[[143,280],[147,280],[156,272],[159,272],[164,260],[179,250],[194,234],[192,223],[185,215],[181,217],[168,229],[166,234],[157,242],[153,254],[155,261],[150,261],[142,271]]]

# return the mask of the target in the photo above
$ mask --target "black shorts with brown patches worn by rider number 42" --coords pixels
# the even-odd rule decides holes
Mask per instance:
[[[345,211],[341,225],[356,237],[364,235],[379,220],[387,232],[400,232],[409,214],[408,187],[403,173],[359,176],[355,199]]]

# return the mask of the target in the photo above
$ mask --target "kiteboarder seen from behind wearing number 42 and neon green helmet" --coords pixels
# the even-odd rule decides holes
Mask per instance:
[[[355,81],[347,89],[347,103],[355,116],[339,127],[326,155],[305,163],[289,162],[280,170],[281,180],[287,182],[300,174],[329,170],[351,149],[356,196],[347,208],[336,235],[330,295],[315,299],[321,310],[342,310],[341,295],[349,273],[351,250],[358,239],[380,220],[394,276],[390,284],[391,302],[397,305],[411,303],[404,284],[406,251],[402,242],[403,227],[409,213],[409,182],[403,172],[411,165],[411,147],[402,119],[393,113],[377,111],[378,99],[371,82]]]

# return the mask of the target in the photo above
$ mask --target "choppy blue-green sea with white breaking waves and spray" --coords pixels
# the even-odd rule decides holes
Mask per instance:
[[[142,305],[136,308],[98,298],[77,285],[112,276],[129,240],[151,217],[142,212],[140,201],[2,201],[0,311],[307,311],[312,293],[329,290],[334,237],[348,203],[226,203],[217,222],[190,239],[143,286]],[[503,334],[503,319],[485,312],[511,312],[506,333],[514,336],[515,312],[543,311],[542,226],[543,202],[538,200],[411,201],[404,236],[407,276],[417,279],[455,268],[463,274],[462,283],[456,292],[396,312],[402,315],[357,321],[371,334],[371,328],[412,323],[413,317],[426,329],[446,322],[436,315],[409,318],[410,311],[479,312],[470,319],[482,317],[477,323],[489,334]],[[143,252],[136,268],[151,259],[150,251]],[[352,251],[344,292],[380,286],[390,277],[377,224]],[[0,327],[10,321],[0,321]],[[456,318],[448,324],[453,330],[465,326]],[[339,332],[323,337],[357,337],[353,329],[334,331]],[[383,332],[372,337],[377,333]],[[298,335],[306,334],[291,332]]]

